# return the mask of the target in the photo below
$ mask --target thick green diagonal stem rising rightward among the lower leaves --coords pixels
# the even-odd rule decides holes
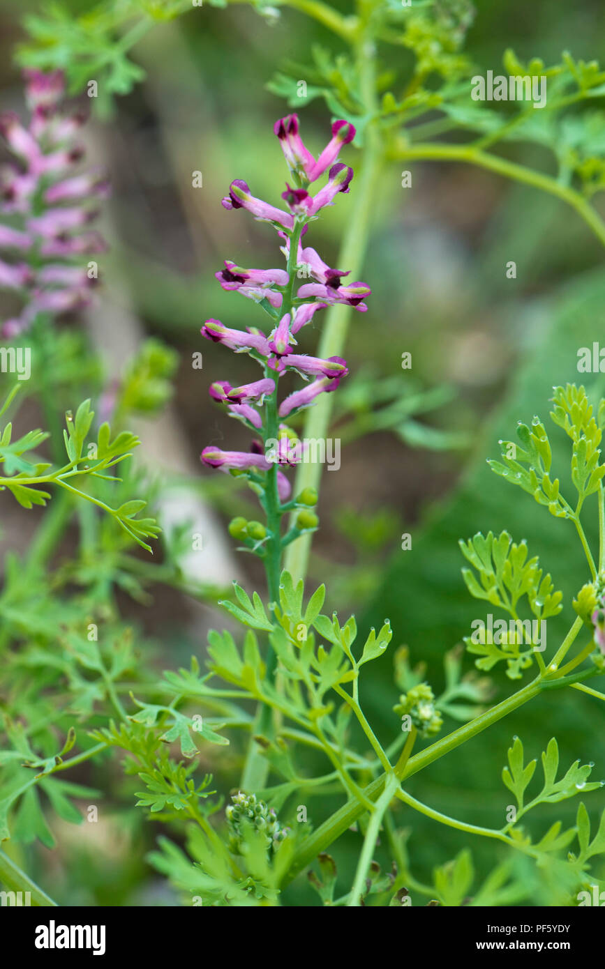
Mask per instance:
[[[507,716],[507,714],[516,710],[519,706],[527,703],[528,700],[533,700],[540,693],[540,690],[541,677],[537,677],[521,690],[518,690],[517,693],[507,697],[502,703],[497,703],[491,710],[480,714],[480,716],[471,720],[470,723],[464,724],[458,730],[430,744],[430,747],[426,747],[419,754],[410,757],[402,770],[398,770],[399,765],[397,765],[395,768],[396,776],[398,776],[399,780],[406,780],[412,774],[418,773],[418,771],[423,770],[434,761],[439,760],[444,754],[449,754],[450,751],[456,750],[457,747],[460,747],[467,740],[472,739],[473,736],[481,734],[488,727],[491,727],[498,720],[501,720],[502,717]],[[405,748],[399,761],[402,760],[404,754]],[[381,796],[384,791],[386,776],[386,774],[381,774],[380,777],[377,777],[375,781],[372,781],[365,788],[364,794],[367,799],[375,801],[377,797]],[[328,818],[323,825],[317,828],[301,846],[284,879],[284,885],[291,882],[320,852],[326,851],[336,838],[340,837],[344,831],[350,828],[364,814],[364,811],[364,806],[355,801],[348,801],[335,811],[332,817]]]

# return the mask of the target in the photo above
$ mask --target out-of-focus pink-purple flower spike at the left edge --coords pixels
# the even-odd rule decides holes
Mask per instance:
[[[86,305],[97,272],[84,260],[106,248],[88,228],[96,215],[91,203],[107,195],[108,183],[79,171],[84,116],[64,107],[61,71],[24,74],[29,124],[13,112],[0,115],[0,134],[14,156],[0,171],[0,288],[15,291],[22,304],[3,324],[9,338],[40,313]]]

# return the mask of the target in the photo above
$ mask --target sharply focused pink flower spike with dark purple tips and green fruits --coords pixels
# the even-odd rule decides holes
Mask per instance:
[[[341,148],[354,139],[354,126],[348,121],[334,121],[332,138],[317,159],[303,144],[296,114],[277,121],[274,133],[290,171],[281,196],[285,206],[275,207],[256,198],[240,179],[231,183],[222,204],[229,210],[246,209],[257,220],[269,222],[283,243],[286,268],[250,269],[226,260],[225,267],[216,273],[224,290],[253,299],[269,314],[271,329],[234,329],[218,320],[207,320],[202,328],[208,340],[222,343],[235,353],[248,354],[263,371],[259,380],[240,387],[233,387],[228,381],[211,385],[210,396],[224,404],[230,416],[243,422],[256,437],[249,452],[209,446],[204,449],[202,460],[221,471],[246,475],[265,508],[268,528],[238,518],[232,522],[231,532],[257,554],[273,558],[302,531],[317,525],[316,516],[309,512],[316,501],[311,489],[289,501],[291,485],[284,471],[297,464],[303,452],[286,421],[312,406],[320,394],[335,391],[348,373],[346,360],[340,357],[319,359],[298,352],[298,335],[318,311],[334,303],[345,303],[364,312],[364,299],[370,293],[366,283],[348,282],[348,271],[331,268],[315,249],[304,244],[309,226],[321,209],[334,204],[340,193],[349,192],[353,170],[337,159]],[[326,184],[311,194],[312,183],[326,173]],[[296,289],[299,275],[308,282]],[[279,400],[279,378],[288,371],[297,373],[304,384]],[[281,540],[279,518],[294,509],[299,509],[300,515]]]

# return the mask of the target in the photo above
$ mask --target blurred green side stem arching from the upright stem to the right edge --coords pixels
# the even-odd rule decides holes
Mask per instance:
[[[605,245],[605,222],[598,212],[590,205],[583,195],[575,189],[563,185],[551,175],[533,172],[524,165],[517,165],[505,158],[500,158],[487,151],[474,147],[472,144],[443,144],[425,142],[410,144],[403,137],[396,141],[396,146],[389,152],[389,156],[398,161],[420,162],[466,162],[489,169],[490,172],[512,178],[513,181],[539,188],[549,195],[554,195],[562,202],[571,205],[578,215],[587,223],[592,232]]]

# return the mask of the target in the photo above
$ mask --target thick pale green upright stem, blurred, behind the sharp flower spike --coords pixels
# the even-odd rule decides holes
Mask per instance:
[[[362,94],[366,109],[376,110],[375,95],[375,62],[373,47],[369,39],[361,40],[358,45],[358,62],[361,70]],[[374,207],[374,190],[382,165],[380,137],[371,122],[366,127],[366,141],[362,154],[362,175],[357,185],[356,204],[348,222],[348,228],[338,254],[338,266],[351,271],[351,279],[356,279],[366,255],[367,236]],[[355,193],[355,183],[353,192]],[[327,311],[326,323],[322,328],[322,336],[317,351],[318,357],[341,357],[347,336],[352,308],[350,306],[332,306]],[[330,427],[333,409],[332,393],[322,393],[314,407],[309,408],[304,422],[303,438],[325,439]],[[297,472],[295,493],[305,487],[319,490],[321,465],[319,463],[302,463]],[[295,582],[304,578],[308,564],[311,546],[310,534],[304,534],[297,542],[288,546],[285,567]]]

